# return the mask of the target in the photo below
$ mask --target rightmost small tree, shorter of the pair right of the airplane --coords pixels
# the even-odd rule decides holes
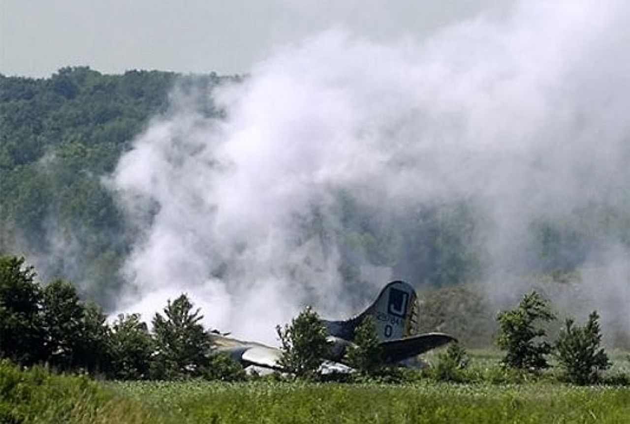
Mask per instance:
[[[593,384],[599,381],[600,370],[610,367],[608,355],[600,348],[602,333],[599,314],[591,312],[585,326],[574,326],[573,319],[566,319],[566,328],[556,341],[556,358],[564,371],[564,377],[575,384]]]

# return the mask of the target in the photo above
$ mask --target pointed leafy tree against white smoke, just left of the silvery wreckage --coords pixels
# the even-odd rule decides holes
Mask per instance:
[[[152,373],[158,379],[200,377],[209,365],[210,338],[200,321],[199,309],[185,294],[168,301],[164,315],[153,318],[156,358]]]

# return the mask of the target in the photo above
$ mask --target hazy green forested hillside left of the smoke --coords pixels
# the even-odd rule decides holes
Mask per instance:
[[[0,75],[0,253],[25,255],[43,279],[69,278],[111,306],[132,235],[102,178],[148,120],[167,110],[177,77],[88,67],[47,79]]]

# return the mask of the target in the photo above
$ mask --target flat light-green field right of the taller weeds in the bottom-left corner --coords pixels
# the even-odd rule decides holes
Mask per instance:
[[[614,387],[133,382],[113,388],[164,418],[190,423],[630,422],[630,389]]]

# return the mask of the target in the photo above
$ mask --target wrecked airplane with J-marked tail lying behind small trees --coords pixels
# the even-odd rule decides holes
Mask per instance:
[[[387,284],[372,305],[357,316],[346,321],[323,320],[331,342],[329,357],[331,362],[343,364],[347,348],[353,345],[355,329],[365,316],[374,318],[377,336],[382,348],[384,362],[406,367],[418,366],[416,357],[421,353],[443,346],[455,338],[444,333],[418,334],[420,306],[418,297],[411,285],[403,281]],[[244,367],[255,365],[274,370],[282,370],[278,360],[282,350],[253,341],[240,341],[212,333],[210,335],[217,353],[227,353]]]

